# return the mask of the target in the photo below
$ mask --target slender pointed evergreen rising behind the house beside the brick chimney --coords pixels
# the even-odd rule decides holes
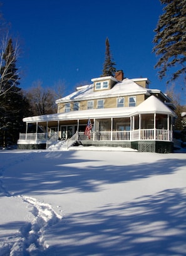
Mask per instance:
[[[116,72],[116,68],[114,67],[116,64],[113,61],[113,58],[111,56],[111,51],[110,51],[110,43],[108,38],[106,38],[105,41],[105,46],[106,46],[106,50],[105,50],[105,62],[103,64],[103,74],[101,75],[101,77],[106,77],[106,76],[112,76],[114,77],[115,72]]]

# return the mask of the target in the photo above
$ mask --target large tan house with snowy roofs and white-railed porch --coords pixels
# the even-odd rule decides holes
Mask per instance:
[[[57,114],[24,118],[26,132],[20,134],[18,148],[44,149],[58,141],[66,149],[120,146],[172,152],[173,105],[160,90],[149,88],[148,78],[124,78],[120,70],[115,77],[91,82],[56,100]],[[89,119],[90,137],[84,134]]]

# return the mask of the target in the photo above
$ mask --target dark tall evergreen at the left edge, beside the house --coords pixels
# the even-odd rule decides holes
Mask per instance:
[[[15,144],[23,127],[23,117],[28,109],[28,102],[19,88],[18,69],[13,41],[9,39],[1,66],[0,96],[0,145]]]

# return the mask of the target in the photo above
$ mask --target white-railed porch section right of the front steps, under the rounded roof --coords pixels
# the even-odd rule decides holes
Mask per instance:
[[[98,119],[88,138],[78,132],[78,141],[172,141],[172,117],[139,114],[120,119]]]

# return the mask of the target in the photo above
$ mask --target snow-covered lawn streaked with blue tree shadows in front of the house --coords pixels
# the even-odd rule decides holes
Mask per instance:
[[[186,255],[184,153],[0,151],[0,193],[1,256]]]

